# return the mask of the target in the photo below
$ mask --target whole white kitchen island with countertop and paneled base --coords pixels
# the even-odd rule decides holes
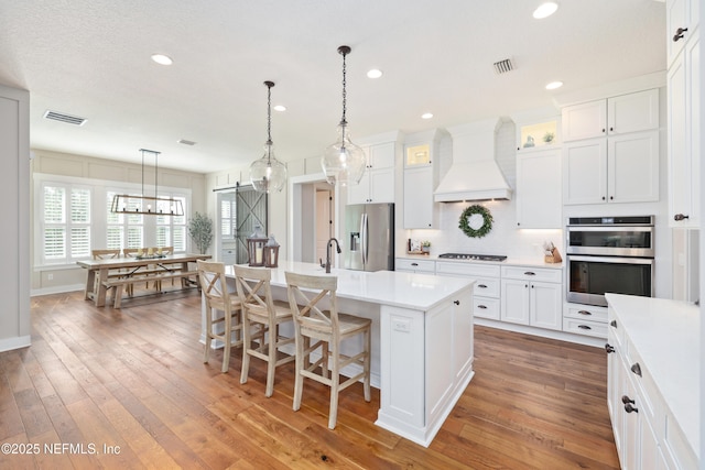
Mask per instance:
[[[317,264],[280,261],[271,282],[280,299],[286,299],[286,271],[337,276],[338,309],[372,319],[376,424],[427,447],[475,373],[474,281],[390,271],[326,274]],[[234,277],[231,266],[227,276]]]

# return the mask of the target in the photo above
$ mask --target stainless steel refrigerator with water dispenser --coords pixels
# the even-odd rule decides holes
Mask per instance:
[[[345,267],[394,271],[394,205],[356,204],[345,210]]]

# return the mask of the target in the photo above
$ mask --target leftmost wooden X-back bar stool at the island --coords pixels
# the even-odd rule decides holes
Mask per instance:
[[[220,340],[224,343],[221,370],[223,372],[227,372],[230,363],[230,348],[242,343],[240,299],[237,295],[231,295],[231,293],[228,292],[224,263],[198,260],[196,261],[196,265],[206,303],[206,350],[203,361],[208,362],[212,340]],[[214,319],[214,310],[223,311],[223,317]],[[214,327],[220,324],[223,324],[223,332],[215,331]],[[234,335],[236,337],[235,342],[232,341]]]

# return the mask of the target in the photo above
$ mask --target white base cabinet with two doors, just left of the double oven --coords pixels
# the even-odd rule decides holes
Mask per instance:
[[[561,270],[502,266],[501,320],[562,329],[561,278]]]

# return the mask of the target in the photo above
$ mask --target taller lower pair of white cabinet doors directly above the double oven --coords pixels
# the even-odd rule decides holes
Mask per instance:
[[[589,139],[563,145],[563,203],[659,200],[659,132]]]

